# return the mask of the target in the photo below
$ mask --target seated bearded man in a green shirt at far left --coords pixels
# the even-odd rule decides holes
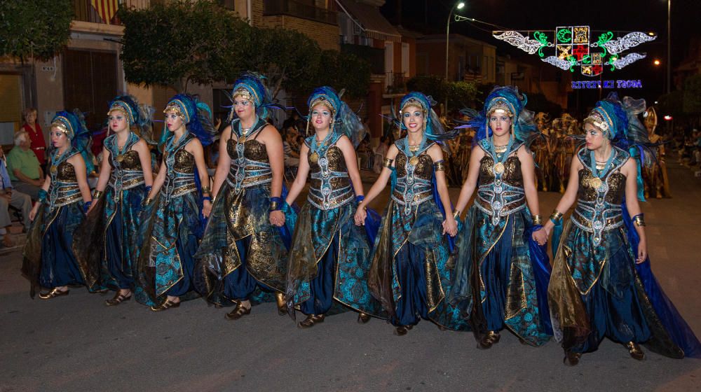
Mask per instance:
[[[39,199],[39,188],[43,185],[43,171],[31,148],[27,132],[15,134],[15,148],[7,154],[7,166],[15,190]]]

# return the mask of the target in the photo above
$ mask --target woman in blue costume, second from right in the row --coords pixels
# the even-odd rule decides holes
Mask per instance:
[[[529,150],[538,132],[525,105],[525,95],[514,87],[496,87],[482,113],[472,116],[469,124],[475,128],[474,146],[454,214],[460,215],[475,190],[477,195],[457,241],[449,297],[470,314],[480,349],[498,342],[504,328],[533,346],[544,344],[552,334],[547,238],[540,230],[535,164]],[[538,243],[531,241],[534,230],[543,233]]]

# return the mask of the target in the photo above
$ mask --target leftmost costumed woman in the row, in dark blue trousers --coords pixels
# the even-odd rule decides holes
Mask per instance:
[[[76,228],[92,203],[88,173],[93,171],[88,129],[82,114],[60,111],[51,121],[48,176],[39,190],[29,219],[22,273],[27,276],[34,297],[37,287],[50,288],[39,297],[49,300],[68,295],[68,285],[82,285],[86,272],[73,253]]]

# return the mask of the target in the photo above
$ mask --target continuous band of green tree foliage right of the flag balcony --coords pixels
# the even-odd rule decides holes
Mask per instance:
[[[185,90],[189,82],[231,83],[243,71],[257,71],[273,95],[327,84],[346,88],[351,97],[364,95],[369,83],[365,60],[321,50],[299,31],[251,27],[214,1],[121,9],[119,18],[125,26],[121,59],[131,83]]]

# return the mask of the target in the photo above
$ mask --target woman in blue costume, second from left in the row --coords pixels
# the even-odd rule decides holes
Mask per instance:
[[[107,125],[113,134],[104,139],[100,179],[86,221],[73,243],[87,272],[86,286],[116,290],[107,306],[128,301],[139,258],[139,214],[154,182],[151,151],[139,134],[151,130],[151,113],[136,99],[119,96],[109,105]]]

